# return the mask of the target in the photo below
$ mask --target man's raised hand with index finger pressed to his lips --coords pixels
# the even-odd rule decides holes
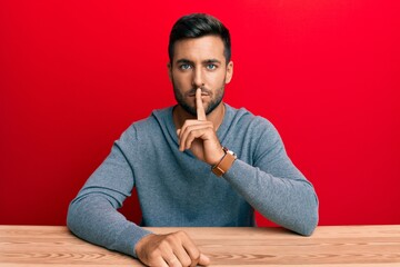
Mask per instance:
[[[179,150],[190,149],[198,159],[213,166],[220,161],[224,152],[212,122],[207,120],[200,88],[196,90],[196,108],[197,120],[186,120],[182,128],[177,131]]]

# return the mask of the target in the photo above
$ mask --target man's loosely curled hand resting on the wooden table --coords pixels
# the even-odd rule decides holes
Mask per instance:
[[[210,259],[200,253],[184,231],[146,236],[137,244],[136,251],[147,266],[183,267],[210,264]]]

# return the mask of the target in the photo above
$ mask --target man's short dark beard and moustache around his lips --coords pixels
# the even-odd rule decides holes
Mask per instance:
[[[188,113],[197,117],[197,109],[196,109],[196,100],[194,101],[187,101],[187,97],[189,95],[196,95],[196,90],[197,88],[192,88],[190,89],[188,92],[186,92],[184,95],[179,90],[179,88],[177,87],[176,82],[172,79],[172,87],[173,87],[173,93],[174,93],[174,98],[178,102],[179,106],[181,106],[183,108],[184,111],[187,111]],[[224,95],[224,85],[221,85],[216,92],[213,93],[211,90],[208,90],[204,87],[200,87],[201,92],[206,92],[210,96],[210,102],[207,107],[204,107],[204,111],[206,115],[211,113],[222,101],[223,99],[223,95]]]

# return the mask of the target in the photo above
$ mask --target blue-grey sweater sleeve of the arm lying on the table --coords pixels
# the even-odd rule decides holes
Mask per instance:
[[[117,210],[130,196],[133,185],[132,169],[117,141],[71,201],[67,226],[87,241],[137,257],[136,244],[150,231]]]

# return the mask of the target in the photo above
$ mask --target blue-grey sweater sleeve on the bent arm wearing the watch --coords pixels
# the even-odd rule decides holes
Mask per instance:
[[[237,159],[224,174],[236,190],[271,221],[309,236],[318,224],[318,198],[313,186],[289,159],[283,142],[269,121],[261,121],[253,162]]]

